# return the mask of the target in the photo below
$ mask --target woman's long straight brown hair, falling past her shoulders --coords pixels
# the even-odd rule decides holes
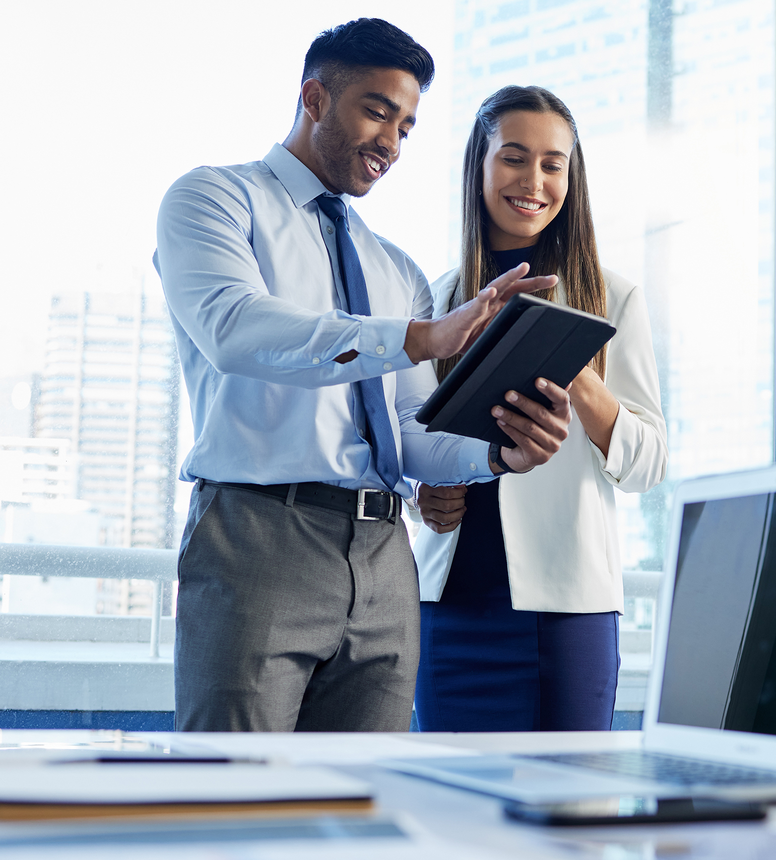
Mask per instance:
[[[503,87],[490,95],[477,111],[464,155],[461,188],[461,266],[449,310],[475,298],[499,269],[490,253],[488,212],[483,200],[483,162],[490,139],[498,129],[503,114],[530,111],[534,114],[557,114],[566,121],[574,135],[569,160],[569,191],[557,216],[547,224],[533,249],[531,274],[557,274],[572,308],[595,316],[607,316],[607,288],[598,261],[593,216],[590,213],[588,177],[585,160],[576,132],[576,123],[557,95],[541,87]],[[535,293],[539,298],[556,299],[556,289]],[[460,356],[437,362],[440,382],[459,362]],[[595,355],[590,366],[604,378],[607,367],[606,347]]]

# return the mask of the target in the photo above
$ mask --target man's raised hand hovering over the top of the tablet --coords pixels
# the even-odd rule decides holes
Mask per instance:
[[[413,320],[407,327],[404,352],[414,364],[427,359],[447,359],[465,353],[482,334],[488,323],[517,292],[549,290],[557,284],[554,274],[539,278],[526,278],[528,264],[510,269],[480,290],[477,298],[451,310],[438,320]]]

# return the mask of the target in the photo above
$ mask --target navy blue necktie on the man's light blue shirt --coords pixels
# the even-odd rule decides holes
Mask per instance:
[[[348,230],[345,204],[339,197],[329,197],[328,194],[321,194],[316,199],[321,212],[331,218],[336,227],[337,255],[340,258],[340,273],[348,299],[348,313],[372,316],[364,271]],[[392,490],[399,480],[399,463],[391,419],[388,417],[388,407],[385,406],[383,380],[373,377],[361,379],[356,384],[360,388],[366,421],[369,422],[378,475],[385,482],[385,486]]]

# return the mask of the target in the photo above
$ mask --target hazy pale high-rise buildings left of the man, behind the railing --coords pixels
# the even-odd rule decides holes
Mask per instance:
[[[173,548],[179,367],[166,305],[142,288],[52,297],[34,438],[0,438],[5,542]],[[145,581],[71,586],[62,605],[65,584],[6,576],[2,611],[150,611]]]

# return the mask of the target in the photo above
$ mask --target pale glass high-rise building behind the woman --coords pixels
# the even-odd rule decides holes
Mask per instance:
[[[617,501],[625,568],[659,570],[676,482],[772,459],[773,3],[534,0],[526,64],[504,7],[456,8],[451,265],[477,107],[508,83],[551,89],[579,128],[601,263],[650,308],[668,479]]]

